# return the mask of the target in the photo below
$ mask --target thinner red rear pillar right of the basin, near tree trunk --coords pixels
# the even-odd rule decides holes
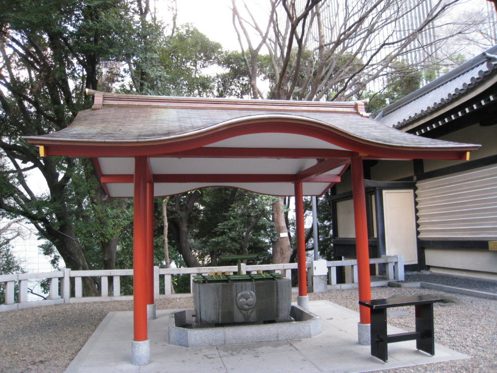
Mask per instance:
[[[295,221],[297,223],[297,272],[299,296],[307,296],[304,195],[302,192],[302,182],[295,183]]]

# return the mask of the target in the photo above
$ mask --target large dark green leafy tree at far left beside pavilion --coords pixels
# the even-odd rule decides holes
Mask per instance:
[[[112,240],[129,224],[129,208],[106,198],[87,161],[40,159],[22,136],[67,127],[89,107],[84,88],[103,84],[99,69],[108,61],[142,68],[145,80],[137,65],[158,65],[152,55],[161,37],[162,25],[137,1],[0,3],[0,208],[28,218],[48,240],[44,253],[73,269],[113,266]],[[32,169],[44,177],[46,194],[25,182]]]

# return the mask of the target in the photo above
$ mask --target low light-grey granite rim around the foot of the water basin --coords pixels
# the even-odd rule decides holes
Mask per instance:
[[[320,317],[296,305],[290,309],[291,321],[270,324],[192,327],[193,313],[193,309],[174,313],[175,326],[169,326],[169,344],[183,347],[234,345],[311,338],[321,333]]]

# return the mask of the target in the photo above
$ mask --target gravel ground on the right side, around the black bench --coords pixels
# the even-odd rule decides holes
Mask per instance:
[[[470,359],[392,369],[389,373],[495,373],[497,372],[497,300],[419,288],[373,287],[372,298],[437,294],[448,303],[434,304],[435,342],[469,355]],[[311,300],[328,299],[358,311],[357,290],[311,293]],[[414,330],[413,307],[399,307],[405,316],[390,316],[388,323]]]

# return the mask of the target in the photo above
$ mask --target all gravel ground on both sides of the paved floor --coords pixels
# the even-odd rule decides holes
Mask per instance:
[[[373,298],[435,293],[416,288],[372,288]],[[497,301],[436,292],[456,303],[435,304],[436,342],[471,356],[470,359],[395,369],[392,373],[497,372]],[[454,295],[457,299],[454,299]],[[357,290],[311,293],[358,311]],[[294,299],[295,300],[295,299]],[[161,299],[157,308],[191,308],[192,298]],[[0,313],[1,373],[63,373],[109,311],[131,310],[131,301],[60,304]],[[414,330],[410,315],[389,317],[389,323]]]

